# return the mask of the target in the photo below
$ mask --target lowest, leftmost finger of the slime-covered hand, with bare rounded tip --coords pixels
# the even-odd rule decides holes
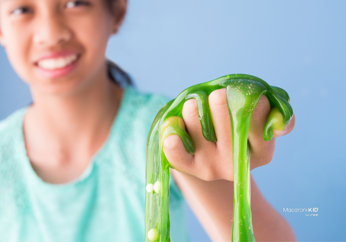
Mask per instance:
[[[186,151],[179,136],[172,134],[165,138],[163,152],[174,169],[185,173],[191,172],[192,155]]]

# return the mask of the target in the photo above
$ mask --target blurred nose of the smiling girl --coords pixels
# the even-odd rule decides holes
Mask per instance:
[[[39,46],[52,48],[68,42],[71,38],[72,31],[65,24],[64,19],[58,15],[49,14],[39,19],[33,41]]]

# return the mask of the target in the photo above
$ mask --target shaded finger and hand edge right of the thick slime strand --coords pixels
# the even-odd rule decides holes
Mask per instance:
[[[251,146],[250,169],[268,164],[275,150],[275,138],[264,141],[263,130],[270,113],[270,103],[265,95],[260,97],[251,117],[248,141]]]

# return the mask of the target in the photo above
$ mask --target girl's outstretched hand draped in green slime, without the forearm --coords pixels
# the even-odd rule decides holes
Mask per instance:
[[[209,106],[217,142],[207,141],[202,134],[198,117],[197,102],[190,99],[184,103],[182,115],[196,152],[190,155],[179,136],[172,134],[163,141],[163,150],[171,166],[181,172],[203,180],[226,179],[233,181],[232,133],[228,113],[226,89],[213,91],[209,95]],[[250,169],[268,164],[274,155],[275,138],[264,141],[263,129],[270,112],[270,104],[262,95],[252,114],[248,141],[251,146]],[[274,130],[274,137],[280,137],[294,128],[295,117],[284,131]]]

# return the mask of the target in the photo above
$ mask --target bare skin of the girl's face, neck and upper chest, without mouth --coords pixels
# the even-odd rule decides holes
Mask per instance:
[[[106,75],[108,38],[121,25],[103,1],[66,8],[62,0],[1,0],[0,40],[7,56],[29,85],[33,97],[24,118],[27,155],[37,175],[49,183],[66,183],[83,173],[108,136],[122,90]],[[33,13],[14,15],[28,6]],[[72,50],[77,67],[59,78],[46,78],[35,62],[47,53]]]

